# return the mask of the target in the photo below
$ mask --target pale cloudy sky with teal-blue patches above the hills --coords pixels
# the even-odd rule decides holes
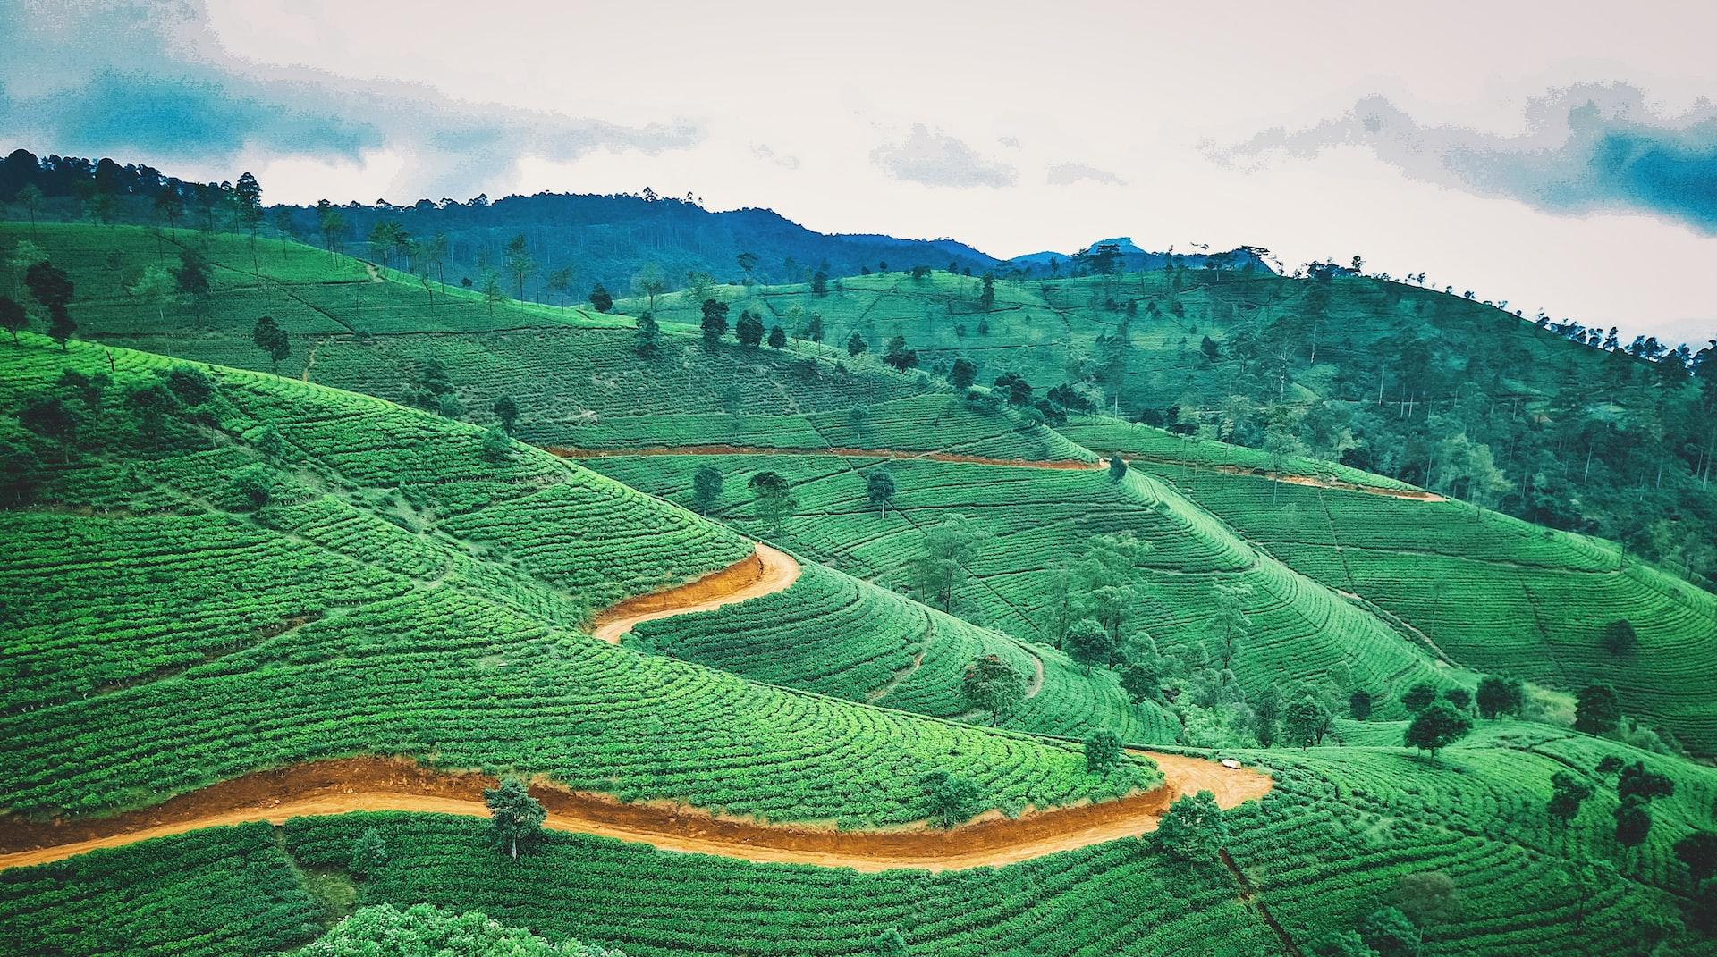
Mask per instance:
[[[270,202],[647,185],[1717,336],[1712,3],[0,0],[0,147]]]

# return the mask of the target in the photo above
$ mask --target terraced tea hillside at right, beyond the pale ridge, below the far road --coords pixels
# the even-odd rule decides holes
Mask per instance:
[[[1612,542],[1466,503],[1403,497],[1401,487],[1353,470],[1288,463],[1286,480],[1276,482],[1262,453],[1235,449],[1216,461],[1202,451],[1214,442],[1149,427],[1071,432],[1150,456],[1144,468],[1250,542],[1408,623],[1465,667],[1566,691],[1614,684],[1629,713],[1698,753],[1717,748],[1708,693],[1717,686],[1717,597],[1624,557]],[[1174,463],[1180,448],[1188,465]],[[1604,647],[1617,621],[1638,636],[1624,653]]]

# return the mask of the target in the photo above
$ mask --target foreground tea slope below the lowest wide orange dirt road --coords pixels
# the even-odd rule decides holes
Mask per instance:
[[[1674,798],[1653,804],[1655,827],[1638,854],[1607,835],[1614,785],[1590,770],[1605,755],[1643,760],[1678,782]],[[1717,798],[1708,768],[1506,722],[1439,760],[1394,748],[1260,758],[1274,767],[1277,789],[1229,815],[1229,849],[1301,952],[1326,930],[1353,928],[1391,904],[1401,876],[1427,871],[1449,875],[1456,907],[1432,924],[1425,955],[1629,952],[1624,942],[1645,940],[1645,918],[1676,912],[1686,871],[1667,849],[1690,828],[1712,827]],[[1600,789],[1568,832],[1542,815],[1557,770]],[[72,933],[88,924],[134,931],[136,952],[216,954],[234,940],[270,950],[314,933],[287,863],[343,878],[366,827],[381,830],[390,863],[355,882],[359,902],[481,909],[551,938],[640,957],[846,954],[891,928],[913,952],[951,957],[1283,952],[1219,864],[1178,863],[1132,840],[1001,870],[855,875],[556,834],[513,864],[494,854],[481,822],[433,815],[306,818],[280,840],[261,827],[199,832],[10,871],[0,885],[0,928],[48,935],[67,954],[100,952]],[[216,856],[247,861],[258,885],[225,880]],[[1585,858],[1617,870],[1605,864],[1581,906],[1569,861]],[[252,895],[280,904],[254,909],[251,923],[209,928]],[[129,907],[136,899],[175,906],[182,924],[139,928]],[[180,943],[168,936],[175,926],[209,928],[209,936]],[[1714,942],[1691,936],[1667,945],[1672,954],[1717,954]]]

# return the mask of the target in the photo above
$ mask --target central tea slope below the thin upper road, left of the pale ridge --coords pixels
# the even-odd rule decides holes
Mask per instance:
[[[1355,688],[1396,695],[1417,681],[1453,683],[1410,638],[1389,629],[1332,590],[1252,547],[1210,513],[1133,470],[1121,484],[1102,470],[1030,470],[925,460],[876,461],[838,456],[649,456],[601,458],[592,466],[634,487],[690,501],[692,473],[714,466],[728,478],[716,516],[762,533],[750,515],[743,477],[773,468],[793,482],[798,515],[783,540],[843,571],[903,583],[922,530],[965,515],[989,532],[956,611],[1015,638],[1053,643],[1049,607],[1059,593],[1054,569],[1071,566],[1087,542],[1130,532],[1150,544],[1128,633],[1144,631],[1168,652],[1214,650],[1210,621],[1217,583],[1253,588],[1245,600],[1252,636],[1235,660],[1248,688],[1314,679],[1346,665]],[[895,508],[883,518],[865,497],[864,473],[888,470]]]

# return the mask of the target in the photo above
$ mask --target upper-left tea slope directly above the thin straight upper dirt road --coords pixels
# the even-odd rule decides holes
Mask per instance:
[[[70,273],[84,338],[270,369],[251,341],[256,317],[268,314],[292,336],[283,376],[304,377],[309,367],[309,381],[400,400],[422,364],[436,358],[465,418],[494,422],[489,406],[512,396],[519,436],[536,444],[1080,454],[1042,425],[972,412],[946,386],[886,370],[876,358],[836,364],[834,352],[814,343],[749,350],[730,336],[706,350],[694,329],[668,324],[659,353],[640,358],[632,319],[489,305],[469,290],[424,286],[397,273],[371,281],[362,262],[297,244],[258,240],[254,273],[249,242],[225,233],[180,232],[175,242],[132,226],[41,225],[36,244]],[[127,293],[146,268],[177,268],[182,247],[206,247],[215,264],[213,292],[201,304],[151,304]],[[855,418],[853,406],[874,412]]]

